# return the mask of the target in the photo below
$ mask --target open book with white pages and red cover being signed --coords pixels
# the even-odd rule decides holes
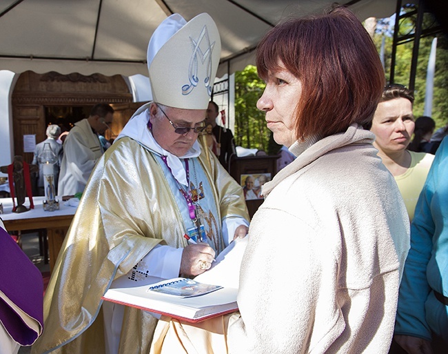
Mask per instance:
[[[148,279],[153,284],[129,286],[125,279],[120,282],[119,278],[106,291],[103,299],[185,322],[201,322],[237,311],[239,268],[245,244],[247,237],[232,242],[216,257],[213,268],[194,280],[174,278],[160,282],[161,279],[153,277]]]

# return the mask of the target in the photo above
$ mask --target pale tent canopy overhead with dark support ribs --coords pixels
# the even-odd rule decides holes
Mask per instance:
[[[2,0],[0,70],[147,76],[152,32],[174,12],[187,21],[207,12],[222,50],[218,77],[254,63],[269,28],[287,17],[319,13],[334,0]],[[343,0],[363,21],[388,17],[396,2]]]

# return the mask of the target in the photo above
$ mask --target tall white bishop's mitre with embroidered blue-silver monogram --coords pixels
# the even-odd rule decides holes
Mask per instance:
[[[207,109],[221,56],[218,28],[209,14],[185,21],[167,17],[147,48],[152,98],[174,108]]]

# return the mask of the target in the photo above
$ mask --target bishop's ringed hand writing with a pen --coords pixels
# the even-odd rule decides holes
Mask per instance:
[[[199,275],[210,269],[214,260],[214,249],[208,244],[189,244],[183,248],[180,274]]]

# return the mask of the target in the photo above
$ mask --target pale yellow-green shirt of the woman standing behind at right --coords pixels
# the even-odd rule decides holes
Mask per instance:
[[[416,153],[414,151],[409,151],[409,153],[411,154],[411,166],[409,166],[403,175],[396,176],[395,181],[405,201],[409,220],[412,221],[414,219],[417,200],[425,184],[429,168],[434,160],[434,155]]]

